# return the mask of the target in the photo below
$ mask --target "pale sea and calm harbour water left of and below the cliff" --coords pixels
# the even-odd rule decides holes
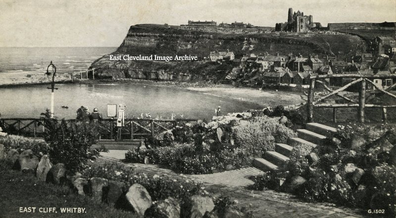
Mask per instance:
[[[1,76],[44,74],[49,62],[56,72],[86,70],[99,57],[112,53],[113,47],[83,48],[0,48]],[[2,118],[38,118],[50,108],[49,85],[29,85],[0,88]],[[167,119],[172,113],[178,118],[211,118],[214,109],[224,113],[258,109],[259,105],[235,99],[206,95],[174,87],[144,84],[56,84],[54,115],[75,118],[81,106],[92,112],[98,108],[107,117],[108,104],[126,104],[127,117],[149,113],[152,118]]]

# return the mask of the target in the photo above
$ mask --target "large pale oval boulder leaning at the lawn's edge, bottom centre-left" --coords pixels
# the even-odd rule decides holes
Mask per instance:
[[[133,184],[129,187],[125,197],[134,209],[135,213],[142,217],[144,216],[145,211],[152,205],[150,195],[146,188],[140,184]]]

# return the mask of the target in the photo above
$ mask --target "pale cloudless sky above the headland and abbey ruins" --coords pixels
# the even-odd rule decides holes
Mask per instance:
[[[396,0],[0,0],[0,47],[118,47],[141,23],[275,27],[289,7],[323,26],[396,21]]]

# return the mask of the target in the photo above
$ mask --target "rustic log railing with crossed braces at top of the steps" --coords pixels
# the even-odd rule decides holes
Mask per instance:
[[[341,88],[336,90],[332,90],[329,88],[325,82],[325,79],[332,78],[350,78],[354,79],[350,83],[344,85]],[[358,75],[358,74],[334,74],[334,75],[316,75],[310,77],[310,86],[308,90],[308,99],[307,99],[307,122],[313,122],[313,109],[314,108],[332,108],[333,109],[333,122],[337,122],[337,109],[338,108],[357,108],[358,109],[358,120],[361,123],[364,123],[364,109],[365,108],[378,108],[382,109],[382,117],[383,121],[387,121],[387,109],[388,108],[396,108],[396,105],[375,105],[375,104],[367,104],[369,100],[375,98],[375,93],[383,93],[385,95],[391,96],[396,99],[396,95],[390,93],[390,91],[396,87],[396,83],[392,84],[386,89],[383,87],[379,87],[375,84],[371,79],[396,79],[396,75]],[[319,97],[317,99],[314,98],[314,90],[315,85],[321,84],[325,90],[329,93],[325,96]],[[366,93],[367,84],[373,87],[374,92]],[[351,86],[358,86],[359,97],[358,100],[350,99],[341,94],[342,91],[345,91],[347,88]],[[328,99],[331,96],[338,96],[348,102],[348,104],[326,104],[321,103],[323,100]]]

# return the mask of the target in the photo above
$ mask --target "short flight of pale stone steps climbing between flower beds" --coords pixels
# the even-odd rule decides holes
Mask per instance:
[[[253,166],[263,171],[279,171],[280,167],[290,160],[294,146],[306,144],[314,148],[321,145],[329,133],[334,134],[336,131],[336,128],[320,123],[307,123],[305,129],[297,129],[298,137],[289,138],[288,144],[277,143],[275,151],[267,151],[262,158],[254,159]]]

